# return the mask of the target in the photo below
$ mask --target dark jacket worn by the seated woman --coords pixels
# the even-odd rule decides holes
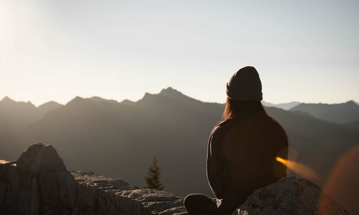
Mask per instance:
[[[255,126],[247,121],[238,124],[228,118],[211,132],[207,177],[216,196],[213,202],[216,214],[230,214],[258,188],[286,177],[286,167],[275,160],[277,156],[288,159],[284,130],[275,120]]]

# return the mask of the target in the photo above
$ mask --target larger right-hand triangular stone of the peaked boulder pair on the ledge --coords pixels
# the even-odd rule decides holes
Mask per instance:
[[[51,145],[42,147],[36,154],[30,172],[40,175],[46,172],[66,172],[64,161],[59,157],[56,150]]]

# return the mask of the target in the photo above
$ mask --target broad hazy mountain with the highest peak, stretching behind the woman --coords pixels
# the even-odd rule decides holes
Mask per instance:
[[[142,186],[157,156],[164,190],[213,196],[206,178],[207,143],[223,104],[201,102],[170,87],[159,94],[146,93],[130,105],[108,101],[76,97],[26,128],[13,128],[16,135],[6,143],[0,139],[1,149],[7,147],[0,150],[0,158],[17,159],[29,144],[42,142],[57,149],[67,169],[96,171]],[[320,186],[340,156],[358,144],[359,132],[344,125],[300,111],[266,110],[288,134],[289,159],[318,172],[321,178],[312,181]],[[23,116],[19,119],[27,118]]]

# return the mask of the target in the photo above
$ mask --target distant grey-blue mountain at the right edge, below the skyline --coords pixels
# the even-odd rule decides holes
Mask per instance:
[[[315,118],[333,123],[350,123],[359,120],[359,105],[348,101],[341,104],[305,104],[302,103],[290,109],[290,111],[306,112]]]

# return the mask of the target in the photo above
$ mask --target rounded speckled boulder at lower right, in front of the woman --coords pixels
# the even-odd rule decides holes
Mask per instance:
[[[347,215],[320,187],[306,179],[282,178],[256,190],[232,215]]]

